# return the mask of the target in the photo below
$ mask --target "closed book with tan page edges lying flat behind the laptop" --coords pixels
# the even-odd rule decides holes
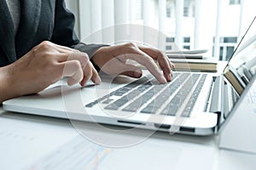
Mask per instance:
[[[218,71],[216,59],[171,59],[171,61],[176,71]]]

